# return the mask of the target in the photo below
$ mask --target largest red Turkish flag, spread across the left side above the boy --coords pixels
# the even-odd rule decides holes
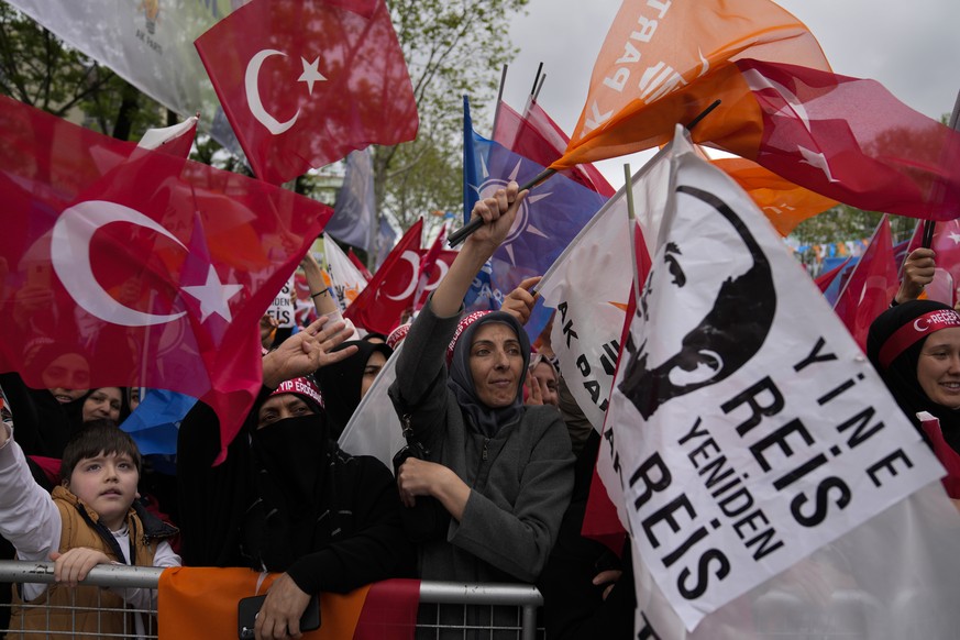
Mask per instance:
[[[235,435],[257,323],[332,210],[0,98],[0,371],[199,397]]]

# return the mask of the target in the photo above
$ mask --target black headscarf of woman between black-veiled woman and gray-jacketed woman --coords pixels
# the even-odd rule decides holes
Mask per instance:
[[[363,383],[363,372],[369,356],[375,352],[384,354],[389,360],[394,353],[386,344],[367,342],[366,340],[350,340],[333,351],[341,351],[356,345],[357,351],[346,360],[321,367],[315,374],[320,395],[323,397],[323,408],[330,428],[330,438],[336,440],[343,433],[351,416],[360,405],[360,387]]]

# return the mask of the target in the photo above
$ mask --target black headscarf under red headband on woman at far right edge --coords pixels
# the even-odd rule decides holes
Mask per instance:
[[[930,400],[917,380],[917,363],[926,338],[906,347],[886,368],[880,364],[880,350],[897,329],[920,316],[939,310],[949,311],[952,307],[934,300],[912,300],[887,309],[870,325],[867,335],[867,356],[880,373],[896,404],[920,433],[923,434],[923,430],[917,419],[917,411],[927,411],[940,420],[940,429],[947,443],[955,451],[960,452],[960,411]],[[927,440],[926,434],[924,439]]]

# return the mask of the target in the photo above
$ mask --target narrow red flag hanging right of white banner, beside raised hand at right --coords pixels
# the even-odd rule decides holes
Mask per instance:
[[[864,353],[870,324],[890,307],[898,286],[890,219],[884,216],[834,305],[834,311]]]

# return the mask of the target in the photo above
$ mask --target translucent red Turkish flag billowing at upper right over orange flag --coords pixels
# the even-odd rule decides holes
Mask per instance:
[[[758,60],[737,67],[763,118],[759,164],[869,211],[937,220],[960,212],[960,133],[874,80]]]

